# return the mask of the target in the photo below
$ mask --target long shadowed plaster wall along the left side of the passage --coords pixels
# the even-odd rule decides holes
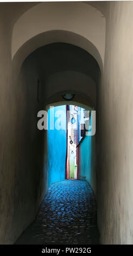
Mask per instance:
[[[4,12],[2,11],[4,14]],[[12,244],[35,218],[46,191],[43,134],[37,130],[37,70],[11,62],[11,27],[0,15],[0,243]],[[46,159],[45,159],[46,168]]]

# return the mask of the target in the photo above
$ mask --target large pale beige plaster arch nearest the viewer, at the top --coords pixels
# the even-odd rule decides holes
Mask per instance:
[[[99,64],[103,65],[105,18],[98,9],[83,2],[44,2],[26,11],[16,21],[13,29],[12,58],[14,58],[18,49],[31,38],[44,32],[58,30],[75,33],[91,42],[92,46],[94,45],[96,47],[99,56],[97,53],[94,53],[94,48],[91,45],[89,46],[90,53],[94,53],[96,58],[98,58],[97,61]],[[65,41],[68,40],[67,35],[65,35],[64,39]],[[58,35],[54,40],[58,41]],[[77,46],[80,46],[80,40],[79,42],[73,41]]]

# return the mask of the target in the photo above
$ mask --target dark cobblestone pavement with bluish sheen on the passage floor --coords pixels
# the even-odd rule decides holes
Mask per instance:
[[[16,244],[93,245],[99,243],[94,194],[87,181],[64,180],[50,186],[36,220]]]

